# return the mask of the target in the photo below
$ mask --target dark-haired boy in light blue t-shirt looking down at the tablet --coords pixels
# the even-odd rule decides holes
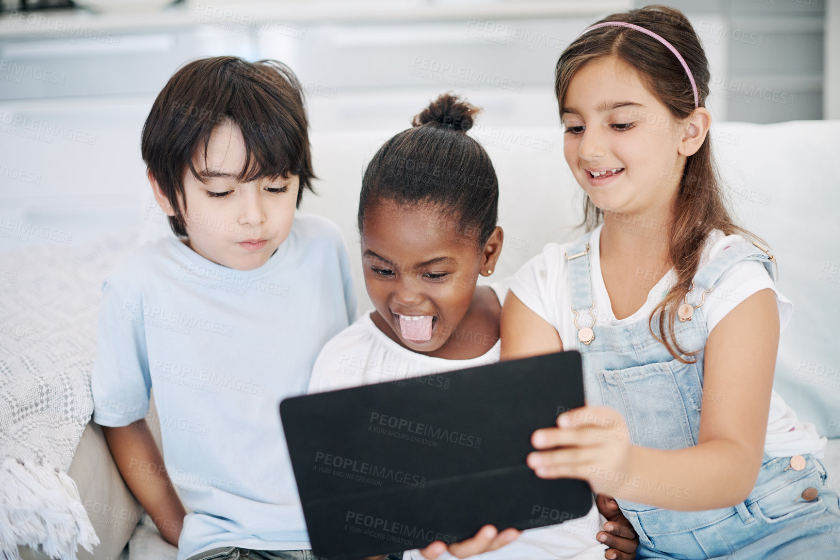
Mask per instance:
[[[314,177],[301,85],[273,61],[191,62],[155,99],[142,154],[178,239],[102,285],[93,420],[178,560],[310,558],[278,404],[306,393],[355,298],[338,228],[295,213]]]

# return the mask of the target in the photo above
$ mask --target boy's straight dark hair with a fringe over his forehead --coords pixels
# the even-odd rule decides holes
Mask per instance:
[[[278,61],[248,62],[235,56],[192,61],[160,91],[143,126],[143,161],[169,199],[172,231],[186,237],[184,172],[204,181],[192,164],[198,149],[207,156],[210,135],[230,121],[242,130],[247,163],[237,177],[300,177],[312,191],[312,159],[303,90],[291,69]]]

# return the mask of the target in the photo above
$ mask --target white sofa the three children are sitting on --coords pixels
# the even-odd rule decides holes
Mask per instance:
[[[318,196],[307,196],[301,211],[326,215],[344,232],[360,313],[370,308],[355,227],[362,172],[381,143],[397,131],[312,134],[321,181],[316,184]],[[492,277],[498,279],[516,272],[549,240],[574,237],[579,231],[582,198],[564,163],[558,127],[477,128],[473,135],[486,144],[500,180],[499,224],[505,230],[506,246]],[[131,140],[135,145],[137,138]],[[840,335],[840,181],[831,163],[840,152],[840,121],[724,123],[716,126],[714,138],[732,207],[741,223],[763,236],[776,252],[781,291],[795,304],[781,339],[775,388],[803,420],[814,422],[829,437],[840,438],[836,341]],[[136,154],[131,157],[129,170],[142,172]],[[139,240],[171,235],[148,189],[144,193],[136,227]],[[82,502],[110,499],[113,508],[134,511],[137,505],[120,488],[107,453],[101,436],[89,426],[70,471],[79,483]],[[840,439],[830,442],[827,466],[829,482],[840,487]],[[91,469],[98,469],[97,473]],[[108,485],[103,480],[116,486],[109,490],[111,497],[91,499],[90,494]],[[117,557],[132,528],[112,539],[109,550],[97,548],[94,557]],[[97,526],[97,531],[114,530],[105,524]],[[174,551],[153,528],[141,525],[134,532],[130,557],[174,558]],[[24,557],[37,556],[24,552]],[[123,558],[128,556],[129,551],[123,551]]]

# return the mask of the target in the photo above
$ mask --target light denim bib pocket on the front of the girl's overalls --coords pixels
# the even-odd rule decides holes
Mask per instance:
[[[682,449],[696,445],[702,386],[697,365],[670,362],[598,372],[604,405],[617,409],[633,445]]]

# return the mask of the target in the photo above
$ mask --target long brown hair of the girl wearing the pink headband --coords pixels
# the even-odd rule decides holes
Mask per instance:
[[[667,40],[685,58],[697,85],[700,107],[709,95],[709,65],[700,40],[688,18],[675,8],[650,5],[625,13],[613,13],[600,22],[626,22],[649,29]],[[632,66],[645,87],[664,103],[675,119],[687,119],[694,111],[694,93],[680,61],[667,47],[646,34],[625,27],[607,26],[581,35],[557,61],[554,93],[563,107],[575,73],[583,66],[607,56]],[[584,225],[590,231],[601,222],[603,211],[591,199],[584,202]],[[711,139],[706,135],[700,149],[688,156],[671,208],[668,225],[668,258],[677,280],[651,313],[648,324],[654,337],[675,359],[690,363],[699,351],[685,351],[676,341],[676,310],[691,288],[706,236],[713,230],[726,235],[742,234],[758,239],[735,225],[722,196],[721,181],[712,161]],[[654,324],[657,328],[654,329]],[[665,334],[663,334],[665,333]],[[685,357],[684,357],[685,356]]]

